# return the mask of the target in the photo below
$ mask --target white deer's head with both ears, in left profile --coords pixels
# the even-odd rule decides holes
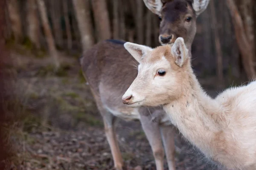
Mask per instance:
[[[122,96],[124,104],[154,107],[182,95],[187,73],[192,70],[183,38],[178,37],[173,45],[154,49],[131,42],[124,46],[140,63],[136,79]]]

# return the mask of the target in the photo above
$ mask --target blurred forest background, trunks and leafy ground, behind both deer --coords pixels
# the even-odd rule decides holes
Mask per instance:
[[[211,0],[197,19],[192,65],[212,96],[218,85],[241,85],[255,76],[255,9],[255,0]],[[28,170],[113,168],[78,58],[110,38],[160,45],[158,16],[143,0],[6,0],[2,10],[10,69],[17,77],[14,92],[25,106],[19,112],[31,113],[13,130],[20,141],[17,164]],[[125,163],[154,169],[140,123],[121,124],[117,131]],[[189,144],[177,147],[179,170],[204,169]]]

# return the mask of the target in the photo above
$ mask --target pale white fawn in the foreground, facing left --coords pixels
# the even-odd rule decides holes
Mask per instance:
[[[207,158],[229,170],[256,170],[256,81],[212,99],[193,73],[183,38],[154,49],[131,42],[124,46],[140,65],[123,103],[162,105],[172,124]]]

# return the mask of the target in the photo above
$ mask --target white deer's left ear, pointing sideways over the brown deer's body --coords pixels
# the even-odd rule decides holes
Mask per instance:
[[[139,63],[149,51],[152,51],[152,48],[148,46],[139,45],[132,42],[125,42],[124,47]]]

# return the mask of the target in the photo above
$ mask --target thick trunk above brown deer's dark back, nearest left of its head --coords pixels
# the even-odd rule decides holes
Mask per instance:
[[[92,0],[92,6],[98,40],[110,39],[111,30],[106,0]]]

